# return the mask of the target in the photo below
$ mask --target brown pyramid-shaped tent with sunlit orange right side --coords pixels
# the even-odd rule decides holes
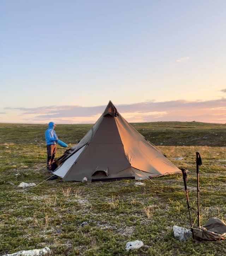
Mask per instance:
[[[137,132],[109,101],[105,111],[79,141],[59,157],[55,175],[63,180],[146,179],[178,173],[149,141]]]

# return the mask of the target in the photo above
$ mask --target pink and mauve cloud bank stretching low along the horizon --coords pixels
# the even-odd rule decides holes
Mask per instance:
[[[113,103],[114,104],[114,103]],[[106,103],[107,105],[107,103]],[[226,99],[209,101],[175,100],[115,105],[128,122],[199,121],[226,123]],[[18,123],[95,123],[106,106],[44,106],[37,108],[5,108],[1,122]]]

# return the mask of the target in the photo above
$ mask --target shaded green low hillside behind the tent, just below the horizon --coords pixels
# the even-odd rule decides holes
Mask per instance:
[[[147,140],[156,146],[226,146],[226,124],[202,122],[131,123]],[[58,137],[75,145],[93,124],[58,124]],[[45,143],[47,124],[0,123],[0,144]]]

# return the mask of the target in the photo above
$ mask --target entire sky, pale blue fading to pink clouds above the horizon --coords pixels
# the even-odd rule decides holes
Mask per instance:
[[[0,0],[0,123],[226,123],[225,0]]]

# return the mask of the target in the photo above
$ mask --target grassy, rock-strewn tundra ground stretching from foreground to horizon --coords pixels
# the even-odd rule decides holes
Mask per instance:
[[[90,124],[59,124],[59,139],[75,145]],[[133,123],[178,168],[188,170],[192,220],[196,215],[196,151],[201,225],[226,220],[226,125],[198,122]],[[46,180],[41,124],[0,124],[0,255],[46,246],[52,255],[226,255],[226,241],[179,242],[172,226],[189,229],[182,174],[143,180]],[[57,157],[65,151],[57,149]],[[179,158],[179,159],[178,159]],[[18,188],[21,182],[35,187]],[[187,222],[187,223],[186,223]],[[125,244],[144,246],[127,252]]]

